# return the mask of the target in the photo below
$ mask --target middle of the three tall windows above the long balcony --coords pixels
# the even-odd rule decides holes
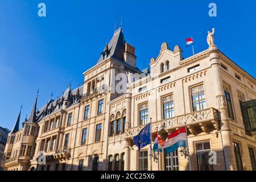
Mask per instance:
[[[174,99],[172,95],[163,97],[163,112],[164,119],[174,117]]]

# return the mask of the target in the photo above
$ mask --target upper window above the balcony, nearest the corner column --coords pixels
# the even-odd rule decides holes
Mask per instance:
[[[193,111],[206,108],[204,85],[198,85],[191,89]]]

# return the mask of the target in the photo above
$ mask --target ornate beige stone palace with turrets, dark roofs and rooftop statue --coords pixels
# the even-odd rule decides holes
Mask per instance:
[[[82,86],[40,110],[36,97],[22,129],[18,117],[5,169],[150,170],[150,145],[138,151],[133,137],[152,121],[152,136],[158,130],[163,139],[187,125],[192,170],[255,170],[256,80],[217,49],[213,34],[209,48],[186,59],[163,43],[149,74],[119,28]],[[152,169],[189,170],[185,151],[152,152]]]

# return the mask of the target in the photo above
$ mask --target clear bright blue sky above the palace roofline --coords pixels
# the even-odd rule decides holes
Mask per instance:
[[[38,4],[47,16],[39,18]],[[210,2],[217,17],[208,16]],[[126,42],[136,47],[137,66],[146,68],[160,45],[179,45],[191,56],[207,49],[207,31],[216,28],[216,44],[241,68],[256,76],[256,1],[0,1],[0,126],[12,129],[19,107],[21,122],[30,114],[40,88],[38,105],[83,81],[82,73],[96,64],[106,40],[123,18]]]

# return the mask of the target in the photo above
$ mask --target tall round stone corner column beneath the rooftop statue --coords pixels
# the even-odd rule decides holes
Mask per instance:
[[[228,171],[236,170],[236,161],[234,157],[231,129],[229,126],[228,107],[224,96],[224,88],[221,78],[220,60],[218,58],[217,46],[209,48],[210,63],[213,72],[213,84],[216,93],[217,109],[221,119],[221,134],[223,139],[224,154],[226,159],[226,167]]]

